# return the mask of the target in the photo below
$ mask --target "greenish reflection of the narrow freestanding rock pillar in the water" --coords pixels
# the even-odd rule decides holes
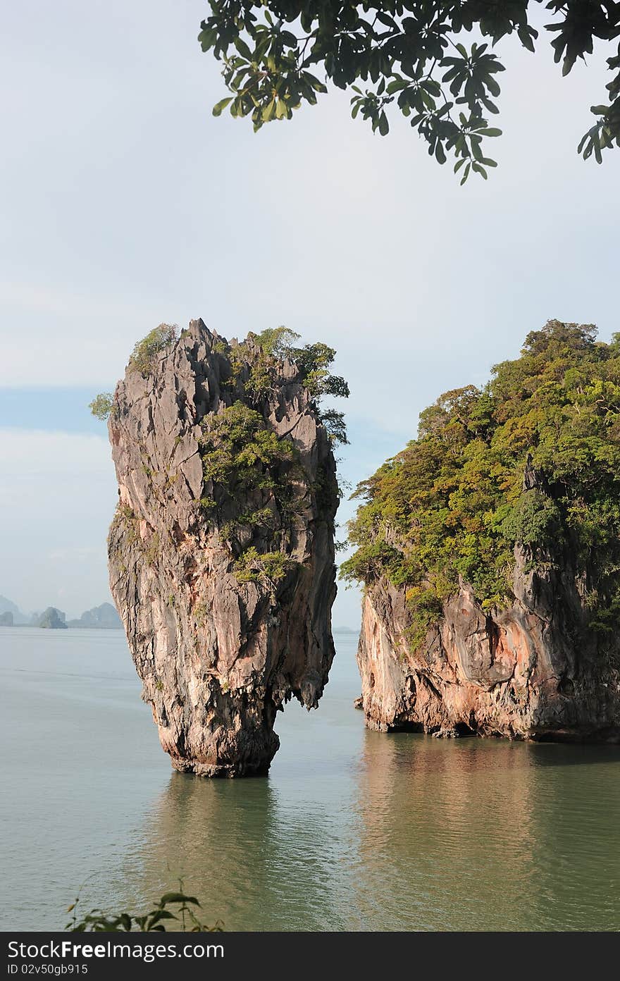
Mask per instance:
[[[337,826],[346,822],[336,801],[327,819],[323,806],[282,800],[268,779],[173,774],[145,829],[140,894],[157,896],[181,876],[205,920],[227,929],[342,928]]]

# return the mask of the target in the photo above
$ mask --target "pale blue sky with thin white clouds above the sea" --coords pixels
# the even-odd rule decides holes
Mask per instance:
[[[600,55],[562,78],[546,44],[501,42],[499,166],[460,187],[406,120],[374,136],[337,90],[257,134],[213,118],[226,91],[196,41],[207,9],[3,12],[0,594],[25,611],[110,598],[116,483],[86,406],[162,321],[228,337],[284,324],[336,347],[352,486],[549,318],[620,330],[620,151],[601,167],[575,152],[604,101]],[[355,591],[340,586],[334,621],[358,626]]]

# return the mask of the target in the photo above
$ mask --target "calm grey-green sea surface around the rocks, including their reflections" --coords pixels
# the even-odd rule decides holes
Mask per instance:
[[[0,926],[141,911],[231,930],[616,930],[620,749],[364,729],[353,635],[269,777],[172,772],[120,631],[0,628]]]

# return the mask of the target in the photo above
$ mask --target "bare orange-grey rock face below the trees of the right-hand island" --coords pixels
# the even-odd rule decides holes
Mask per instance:
[[[588,629],[566,550],[541,571],[515,548],[513,604],[486,612],[461,584],[412,651],[403,591],[367,590],[358,648],[373,729],[439,736],[620,740],[620,651]]]

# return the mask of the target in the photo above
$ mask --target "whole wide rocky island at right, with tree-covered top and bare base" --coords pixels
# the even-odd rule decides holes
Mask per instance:
[[[620,335],[548,321],[357,489],[370,726],[620,738]]]

